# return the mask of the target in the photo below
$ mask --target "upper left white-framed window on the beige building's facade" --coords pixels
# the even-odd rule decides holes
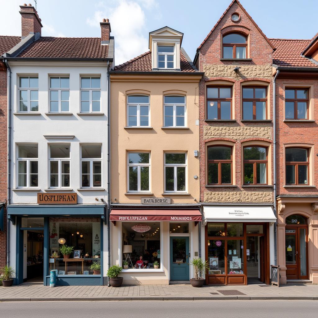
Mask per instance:
[[[149,96],[129,95],[128,127],[149,127]]]

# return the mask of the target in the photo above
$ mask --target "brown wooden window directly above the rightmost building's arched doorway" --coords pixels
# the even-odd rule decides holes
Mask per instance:
[[[309,151],[307,148],[286,148],[286,184],[309,184]]]

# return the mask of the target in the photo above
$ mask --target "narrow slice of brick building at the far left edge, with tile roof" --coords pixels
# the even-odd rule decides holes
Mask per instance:
[[[21,41],[20,37],[0,36],[0,56]],[[0,268],[6,264],[7,199],[7,67],[0,59]]]

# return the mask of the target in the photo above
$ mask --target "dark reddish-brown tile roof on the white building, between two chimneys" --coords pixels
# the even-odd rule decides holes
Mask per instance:
[[[101,45],[100,38],[41,37],[32,42],[19,58],[106,59],[109,45]]]

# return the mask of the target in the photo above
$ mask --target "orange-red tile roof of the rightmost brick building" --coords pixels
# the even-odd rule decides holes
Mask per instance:
[[[285,67],[318,67],[310,59],[301,56],[311,40],[270,39],[276,50],[273,52],[273,64]]]

